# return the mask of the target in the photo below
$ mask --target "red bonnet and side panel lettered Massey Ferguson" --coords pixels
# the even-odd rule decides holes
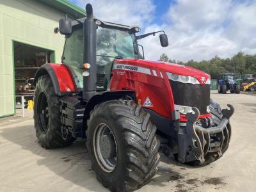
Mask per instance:
[[[119,64],[119,65],[118,65]],[[115,60],[113,65],[113,79],[110,90],[134,90],[137,102],[144,104],[147,98],[151,101],[144,108],[151,109],[159,115],[171,118],[174,110],[172,88],[166,72],[193,76],[200,84],[205,84],[209,75],[195,68],[161,61]],[[201,82],[204,77],[205,81]],[[200,118],[210,114],[200,115]],[[186,122],[185,115],[180,115],[180,121]]]

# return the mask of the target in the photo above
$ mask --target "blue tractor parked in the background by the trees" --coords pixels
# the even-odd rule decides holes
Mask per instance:
[[[221,74],[218,79],[218,93],[226,94],[227,91],[230,93],[240,93],[240,84],[234,79],[234,74]]]

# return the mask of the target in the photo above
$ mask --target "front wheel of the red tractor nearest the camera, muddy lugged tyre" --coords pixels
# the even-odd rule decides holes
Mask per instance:
[[[110,166],[110,169],[106,166],[110,160],[102,160],[102,156],[111,157],[104,154],[105,143],[97,144],[98,132],[101,130],[97,127],[102,124],[107,125],[112,132],[108,137],[111,135],[114,138],[107,143],[116,144],[116,154],[109,152],[116,159],[112,163],[115,166]],[[141,105],[136,105],[133,100],[121,99],[102,102],[91,111],[87,125],[87,147],[92,168],[103,186],[111,191],[133,191],[154,177],[159,163],[159,142],[155,136],[156,126],[150,122],[150,115],[143,111]],[[104,150],[99,150],[97,146],[104,146]],[[110,148],[112,151],[113,147]]]

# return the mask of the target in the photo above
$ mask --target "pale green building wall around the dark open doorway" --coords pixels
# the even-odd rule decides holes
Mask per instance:
[[[54,51],[61,63],[64,36],[53,29],[64,15],[33,0],[0,0],[0,117],[15,114],[13,41]]]

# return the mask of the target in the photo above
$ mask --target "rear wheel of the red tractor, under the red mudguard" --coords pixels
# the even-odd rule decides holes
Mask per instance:
[[[55,94],[51,77],[39,77],[34,96],[36,137],[44,148],[67,147],[75,140],[63,140],[60,122],[60,97]]]

